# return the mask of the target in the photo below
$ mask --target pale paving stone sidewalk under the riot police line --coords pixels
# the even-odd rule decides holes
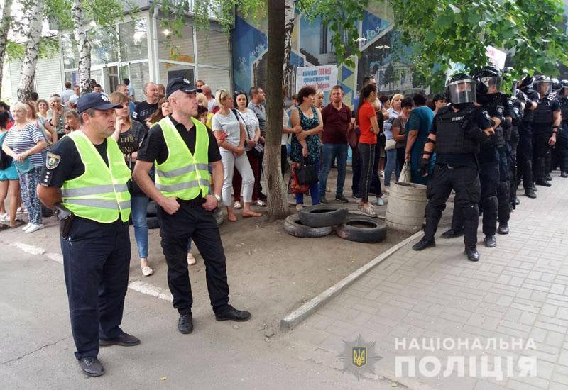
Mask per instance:
[[[375,365],[376,374],[410,388],[568,389],[568,179],[558,172],[552,176],[552,187],[538,187],[537,199],[519,195],[521,204],[511,214],[510,234],[498,235],[496,248],[484,247],[480,223],[479,262],[466,260],[462,238],[439,238],[448,228],[449,219],[444,218],[436,247],[415,252],[412,244],[405,245],[320,308],[290,337],[337,357],[344,340],[361,335],[366,342],[376,342],[382,357]],[[407,340],[406,350],[400,347],[402,338]],[[408,349],[413,338],[419,350]],[[467,340],[469,348],[450,348],[452,342],[445,349],[422,348],[423,342],[429,345],[431,339],[447,338],[456,345]],[[471,348],[476,340],[483,348]],[[523,340],[523,347],[493,348],[492,342],[498,345],[499,340]],[[525,349],[532,342],[534,349]],[[409,375],[404,365],[403,375],[397,377],[396,356],[414,356],[416,375]],[[437,372],[435,363],[422,371],[419,367],[427,356],[441,362],[439,373],[430,377],[428,372]],[[465,357],[463,374],[454,358],[460,356]],[[507,357],[514,362],[512,372]],[[523,376],[518,364],[523,357],[535,357],[535,376],[532,369]],[[335,359],[334,365],[341,368],[342,362]],[[481,366],[488,369],[481,373]]]

